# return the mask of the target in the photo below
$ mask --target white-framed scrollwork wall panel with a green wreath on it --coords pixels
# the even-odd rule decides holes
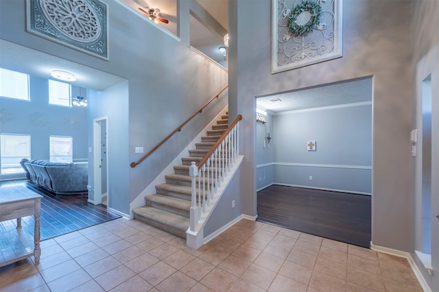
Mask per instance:
[[[272,73],[342,57],[342,0],[272,0]]]

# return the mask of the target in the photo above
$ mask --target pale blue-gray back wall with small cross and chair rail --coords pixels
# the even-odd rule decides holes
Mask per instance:
[[[274,183],[372,191],[372,105],[279,114],[272,136]],[[309,141],[316,141],[316,151],[307,150]]]

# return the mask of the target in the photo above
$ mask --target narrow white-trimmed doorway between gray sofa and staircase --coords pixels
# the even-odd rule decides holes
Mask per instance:
[[[93,204],[110,206],[108,193],[108,118],[93,120]]]

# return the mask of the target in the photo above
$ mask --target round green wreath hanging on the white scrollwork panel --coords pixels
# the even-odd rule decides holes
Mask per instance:
[[[304,12],[308,12],[311,18],[307,23],[300,25],[297,23],[297,21],[303,17]],[[288,29],[293,36],[307,36],[313,30],[313,28],[320,23],[321,16],[322,6],[320,4],[312,0],[302,1],[296,6],[296,8],[294,8],[291,16],[289,16]]]

